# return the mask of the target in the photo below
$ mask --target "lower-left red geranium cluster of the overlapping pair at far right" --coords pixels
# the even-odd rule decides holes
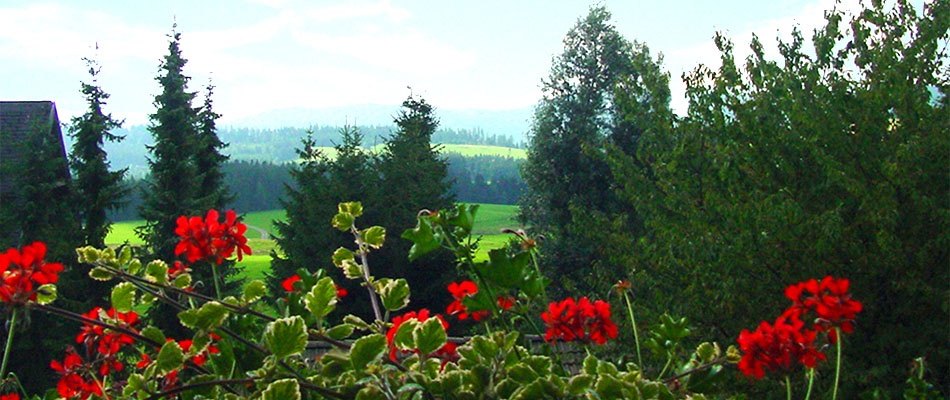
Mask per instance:
[[[815,349],[817,332],[802,330],[804,325],[797,318],[782,316],[775,320],[775,325],[762,321],[755,332],[743,330],[739,334],[739,347],[744,352],[739,370],[761,379],[765,368],[788,373],[798,362],[814,368],[825,355]]]

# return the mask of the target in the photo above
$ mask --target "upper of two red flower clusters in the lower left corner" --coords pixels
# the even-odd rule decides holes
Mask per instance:
[[[106,318],[101,318],[103,312],[100,307],[93,308],[88,313],[83,314],[88,319],[108,322],[133,332],[135,331],[135,324],[139,322],[139,315],[134,311],[120,313],[112,308],[106,311],[104,315]],[[102,376],[108,375],[110,371],[122,370],[122,363],[116,360],[116,355],[122,350],[122,347],[133,342],[132,337],[127,334],[113,331],[107,333],[102,326],[88,322],[83,323],[79,335],[76,335],[76,343],[84,345],[86,349],[89,349],[89,353],[95,348],[96,352],[102,355],[99,364],[99,374]]]

